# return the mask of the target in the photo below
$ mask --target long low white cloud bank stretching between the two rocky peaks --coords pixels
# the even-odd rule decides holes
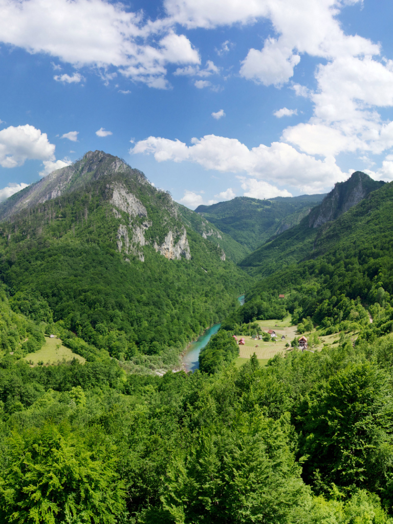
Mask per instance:
[[[315,159],[282,142],[248,149],[235,138],[215,135],[193,138],[190,146],[180,140],[150,136],[138,141],[130,153],[152,154],[158,162],[189,161],[205,169],[245,173],[250,178],[291,185],[305,193],[319,193],[346,178],[334,157]]]

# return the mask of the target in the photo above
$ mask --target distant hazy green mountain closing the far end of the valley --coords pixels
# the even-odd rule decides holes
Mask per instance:
[[[266,200],[237,196],[218,204],[200,205],[195,212],[250,252],[269,238],[298,224],[324,196],[278,196]]]

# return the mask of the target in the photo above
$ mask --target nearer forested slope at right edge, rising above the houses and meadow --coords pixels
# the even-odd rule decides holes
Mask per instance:
[[[301,250],[303,261],[288,261],[271,270],[247,293],[242,310],[245,321],[263,315],[266,293],[285,293],[282,305],[292,313],[294,323],[309,317],[334,333],[344,329],[345,322],[364,318],[367,324],[360,304],[368,304],[374,322],[362,336],[389,333],[393,325],[393,184],[369,193],[318,231],[312,246],[309,239],[304,242],[301,231],[294,237],[292,248]]]

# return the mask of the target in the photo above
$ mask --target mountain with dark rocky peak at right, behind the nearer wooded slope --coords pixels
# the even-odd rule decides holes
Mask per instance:
[[[303,217],[298,225],[266,242],[245,257],[239,265],[252,275],[266,276],[277,267],[287,267],[313,256],[315,244],[331,221],[353,208],[373,191],[383,188],[361,171],[354,172],[345,182],[338,182],[319,205]]]

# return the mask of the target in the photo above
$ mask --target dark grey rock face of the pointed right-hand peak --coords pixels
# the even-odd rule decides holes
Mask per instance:
[[[384,183],[373,180],[362,171],[354,172],[345,182],[336,183],[322,203],[311,210],[309,227],[319,227],[336,219]]]

